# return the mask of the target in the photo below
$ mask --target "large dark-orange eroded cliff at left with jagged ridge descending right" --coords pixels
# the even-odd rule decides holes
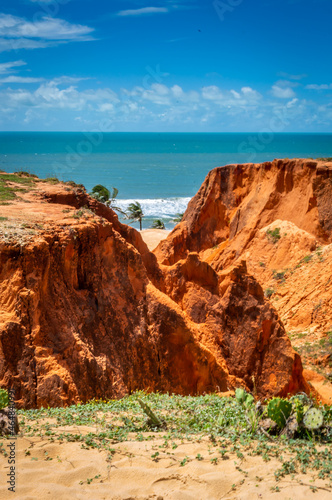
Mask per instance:
[[[0,385],[15,389],[19,405],[137,389],[308,390],[301,359],[245,262],[221,269],[219,257],[202,253],[229,238],[226,198],[213,212],[200,194],[196,246],[182,223],[188,249],[179,238],[181,255],[174,244],[177,258],[165,265],[82,189],[36,180],[17,194],[1,206]]]

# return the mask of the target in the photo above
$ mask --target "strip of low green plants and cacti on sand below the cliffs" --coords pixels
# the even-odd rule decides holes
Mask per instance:
[[[157,440],[153,462],[172,456],[174,464],[185,467],[193,460],[218,465],[235,458],[236,468],[246,477],[241,469],[246,457],[261,456],[266,462],[272,458],[279,461],[274,471],[277,482],[285,476],[293,479],[297,473],[310,473],[313,481],[330,480],[326,486],[332,486],[332,406],[318,406],[302,393],[289,400],[273,398],[260,403],[244,389],[236,389],[235,397],[140,391],[119,400],[19,410],[18,418],[20,436],[27,440],[78,442],[85,450],[106,451],[108,462],[121,453],[117,448],[121,442]],[[180,444],[200,443],[202,439],[208,439],[212,457],[200,453],[173,456]],[[6,454],[1,442],[0,453]],[[31,453],[26,450],[26,455]]]

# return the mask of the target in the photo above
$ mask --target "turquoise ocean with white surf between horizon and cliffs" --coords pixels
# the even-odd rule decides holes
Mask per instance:
[[[139,201],[143,228],[174,227],[207,173],[230,163],[332,156],[332,134],[1,132],[0,170],[25,170],[119,190],[125,209]]]

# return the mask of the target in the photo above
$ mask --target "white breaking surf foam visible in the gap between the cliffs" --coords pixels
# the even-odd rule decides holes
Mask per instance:
[[[191,198],[155,198],[155,199],[132,199],[115,200],[115,205],[122,210],[127,210],[130,203],[138,201],[141,204],[145,217],[172,218],[175,214],[185,212]]]

